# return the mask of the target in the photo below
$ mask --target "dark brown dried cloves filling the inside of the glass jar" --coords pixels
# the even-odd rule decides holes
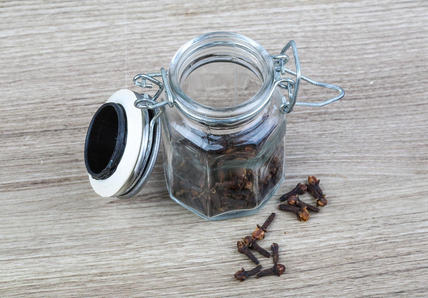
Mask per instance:
[[[206,146],[185,138],[173,145],[172,194],[208,217],[259,206],[283,176],[283,143],[266,151],[265,139],[209,137]]]

